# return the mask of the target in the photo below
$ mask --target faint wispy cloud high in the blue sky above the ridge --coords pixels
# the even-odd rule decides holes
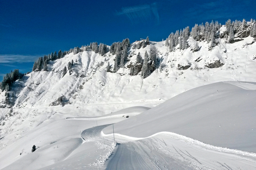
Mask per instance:
[[[159,22],[159,14],[157,4],[151,5],[139,5],[134,7],[123,7],[117,15],[125,14],[132,23],[146,22],[149,19],[154,19],[157,23]]]

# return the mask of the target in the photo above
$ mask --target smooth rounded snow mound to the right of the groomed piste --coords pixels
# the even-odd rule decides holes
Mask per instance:
[[[232,81],[197,87],[116,123],[115,133],[147,137],[169,131],[214,146],[256,152],[255,96],[256,83]]]

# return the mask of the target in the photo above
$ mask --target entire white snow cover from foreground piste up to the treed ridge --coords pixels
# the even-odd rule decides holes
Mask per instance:
[[[197,52],[188,41],[184,51],[168,52],[164,41],[130,49],[117,73],[105,71],[115,55],[83,51],[16,81],[13,109],[0,108],[0,169],[256,169],[255,40],[219,39],[211,51],[197,42]],[[127,65],[153,45],[161,66],[130,76]],[[61,96],[65,105],[54,106]]]

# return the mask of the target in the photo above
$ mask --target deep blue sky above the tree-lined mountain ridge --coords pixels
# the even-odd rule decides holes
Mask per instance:
[[[0,81],[60,49],[147,36],[161,41],[196,23],[256,19],[255,7],[255,0],[0,0]]]

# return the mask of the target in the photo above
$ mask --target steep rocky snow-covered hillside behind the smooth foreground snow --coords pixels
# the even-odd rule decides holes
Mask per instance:
[[[222,25],[216,32],[215,47],[207,40],[193,38],[193,31],[187,40],[188,47],[181,49],[178,44],[172,52],[171,46],[166,46],[171,38],[151,41],[145,47],[144,40],[132,43],[124,67],[118,70],[115,70],[118,54],[113,54],[112,46],[103,56],[83,47],[80,52],[72,51],[63,58],[49,61],[46,65],[49,71],[35,70],[14,82],[11,91],[0,92],[3,108],[0,108],[0,134],[14,130],[12,124],[23,124],[30,116],[34,121],[26,123],[28,129],[37,127],[57,112],[68,110],[66,113],[71,116],[100,116],[132,106],[152,108],[204,84],[228,80],[256,82],[255,38],[249,35],[240,38],[249,28],[241,25],[236,38],[229,43],[226,27]],[[141,43],[144,48],[140,47]],[[143,79],[143,68],[138,75],[131,69],[139,71],[137,55],[140,53],[145,59],[146,51],[151,56],[152,49],[156,55],[153,72]],[[72,61],[74,64],[69,68],[68,63]],[[152,69],[152,65],[148,67]],[[63,76],[64,67],[69,70]],[[11,106],[12,109],[6,109]],[[42,113],[41,108],[45,108],[47,114]]]

